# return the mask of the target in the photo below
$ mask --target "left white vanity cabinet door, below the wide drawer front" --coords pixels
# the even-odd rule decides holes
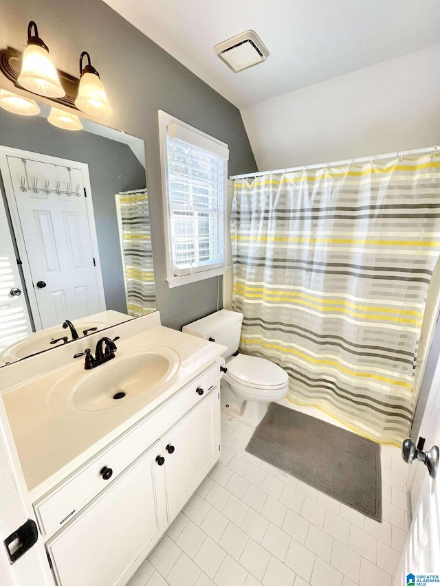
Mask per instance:
[[[47,542],[61,586],[122,586],[167,526],[160,442]],[[140,557],[141,556],[141,557]]]

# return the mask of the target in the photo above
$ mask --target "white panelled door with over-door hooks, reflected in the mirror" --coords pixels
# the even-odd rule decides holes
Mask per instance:
[[[30,157],[6,159],[18,216],[12,214],[12,221],[29,265],[36,329],[99,313],[105,307],[83,170]]]

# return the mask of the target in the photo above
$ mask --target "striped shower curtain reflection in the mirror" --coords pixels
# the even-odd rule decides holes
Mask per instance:
[[[127,312],[137,317],[156,308],[148,193],[118,194],[116,202]]]

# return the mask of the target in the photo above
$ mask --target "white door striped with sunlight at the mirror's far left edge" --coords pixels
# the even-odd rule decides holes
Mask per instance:
[[[30,333],[23,284],[0,193],[0,352]]]

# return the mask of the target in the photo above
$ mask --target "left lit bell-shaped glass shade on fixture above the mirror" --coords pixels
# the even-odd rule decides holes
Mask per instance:
[[[17,81],[21,87],[47,98],[63,98],[65,95],[49,51],[40,45],[31,44],[25,48]]]

